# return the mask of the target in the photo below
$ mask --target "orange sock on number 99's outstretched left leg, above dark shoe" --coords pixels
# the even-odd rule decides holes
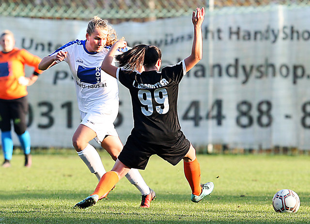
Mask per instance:
[[[116,172],[109,171],[109,172],[105,173],[101,177],[95,191],[91,195],[98,194],[99,198],[100,198],[102,195],[111,191],[111,189],[114,187],[114,185],[118,181],[119,181],[119,177],[118,177]]]

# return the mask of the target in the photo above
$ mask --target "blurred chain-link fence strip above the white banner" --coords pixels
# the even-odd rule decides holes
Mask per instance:
[[[0,0],[1,16],[88,20],[93,15],[113,23],[150,21],[190,15],[197,6],[229,12],[268,9],[271,5],[305,6],[309,0]],[[223,13],[223,11],[221,11]]]

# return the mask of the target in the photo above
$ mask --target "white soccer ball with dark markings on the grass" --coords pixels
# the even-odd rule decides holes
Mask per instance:
[[[300,206],[299,196],[289,189],[280,190],[273,196],[272,206],[276,212],[296,212]]]

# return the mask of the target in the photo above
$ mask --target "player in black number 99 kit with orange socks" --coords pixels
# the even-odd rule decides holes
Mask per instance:
[[[121,40],[112,45],[101,69],[129,89],[134,128],[112,170],[102,176],[93,194],[74,208],[93,206],[130,168],[144,170],[149,158],[155,154],[172,165],[184,160],[184,173],[192,190],[192,202],[201,201],[213,191],[212,182],[200,183],[201,172],[196,150],[181,131],[177,114],[179,83],[186,72],[202,59],[203,18],[204,8],[197,8],[197,13],[192,14],[194,40],[191,54],[178,64],[164,67],[160,72],[159,48],[135,46],[115,57],[120,64],[120,67],[116,67],[111,64],[113,56],[118,48],[125,48],[127,44]]]

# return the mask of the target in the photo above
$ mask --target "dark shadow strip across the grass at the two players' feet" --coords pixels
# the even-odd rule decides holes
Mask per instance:
[[[16,201],[16,200],[37,200],[37,199],[46,199],[46,200],[82,200],[90,194],[90,191],[78,191],[73,192],[72,190],[67,191],[55,191],[55,192],[47,192],[46,190],[35,190],[35,191],[0,191],[0,198],[6,202]],[[299,192],[300,201],[302,205],[310,206],[310,198],[309,192]],[[233,204],[244,204],[244,203],[253,203],[253,204],[262,204],[262,203],[270,203],[273,195],[262,194],[262,195],[219,195],[217,192],[213,192],[212,194],[206,196],[202,202],[200,203],[215,203],[215,204],[223,204],[227,205],[230,203]],[[123,202],[132,202],[135,200],[141,200],[140,192],[125,192],[118,191],[117,189],[111,191],[105,200],[115,200],[115,201],[123,201]],[[190,201],[190,192],[188,194],[180,194],[180,193],[171,193],[171,192],[156,192],[156,201],[161,203],[185,203]]]

